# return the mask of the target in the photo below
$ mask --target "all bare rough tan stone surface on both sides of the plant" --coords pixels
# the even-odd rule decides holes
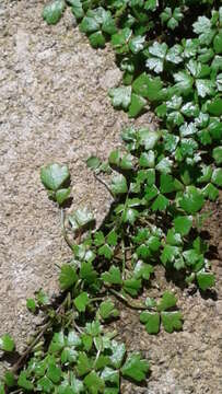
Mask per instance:
[[[87,206],[98,218],[110,197],[85,167],[91,154],[107,158],[120,144],[126,114],[115,112],[107,89],[121,73],[109,47],[94,50],[66,12],[57,26],[42,20],[45,1],[0,3],[0,335],[8,332],[24,348],[38,317],[26,312],[26,298],[40,287],[58,292],[57,265],[69,259],[58,209],[39,182],[39,169],[67,163],[71,209]],[[139,123],[151,123],[148,113]],[[222,392],[222,195],[206,224],[217,274],[215,293],[202,297],[156,273],[156,286],[172,288],[183,310],[184,331],[149,336],[137,313],[121,311],[117,324],[130,349],[151,360],[148,385],[124,382],[121,393],[218,394]],[[151,289],[160,293],[157,287]],[[1,363],[1,369],[2,369]],[[5,366],[5,364],[4,364]]]

